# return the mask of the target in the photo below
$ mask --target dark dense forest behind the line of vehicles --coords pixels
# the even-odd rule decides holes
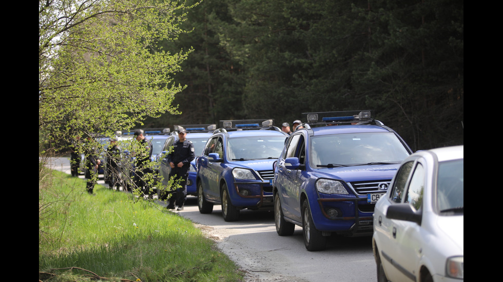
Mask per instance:
[[[463,1],[204,0],[183,27],[182,114],[143,127],[374,110],[413,150],[463,144]]]

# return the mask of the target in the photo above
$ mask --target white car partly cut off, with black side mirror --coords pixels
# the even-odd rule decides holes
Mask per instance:
[[[464,279],[463,147],[405,159],[374,211],[380,281]]]

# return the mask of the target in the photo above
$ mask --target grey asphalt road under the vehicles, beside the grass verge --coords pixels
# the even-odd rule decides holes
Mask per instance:
[[[54,159],[52,167],[70,173],[68,158]],[[276,233],[273,212],[242,210],[240,221],[229,223],[220,206],[210,214],[199,213],[195,197],[188,197],[183,211],[174,212],[214,238],[218,248],[247,272],[247,282],[377,280],[371,237],[332,236],[326,250],[309,252],[300,227],[292,236]]]

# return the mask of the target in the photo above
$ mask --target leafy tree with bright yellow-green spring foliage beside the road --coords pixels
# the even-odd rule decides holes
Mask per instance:
[[[172,81],[189,51],[169,53],[187,10],[178,1],[39,1],[38,124],[61,148],[175,114]]]

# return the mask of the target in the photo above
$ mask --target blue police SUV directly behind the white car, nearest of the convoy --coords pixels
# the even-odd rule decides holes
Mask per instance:
[[[276,231],[303,230],[309,251],[332,233],[372,235],[372,215],[399,164],[411,153],[371,111],[305,113],[275,163]],[[315,127],[318,126],[318,127]]]

